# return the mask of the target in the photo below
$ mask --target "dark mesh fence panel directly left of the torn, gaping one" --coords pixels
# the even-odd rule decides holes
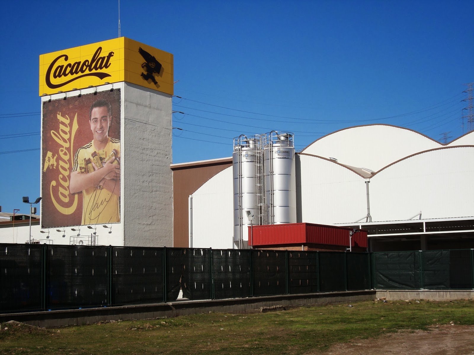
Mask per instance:
[[[164,248],[112,248],[114,305],[163,302]]]

